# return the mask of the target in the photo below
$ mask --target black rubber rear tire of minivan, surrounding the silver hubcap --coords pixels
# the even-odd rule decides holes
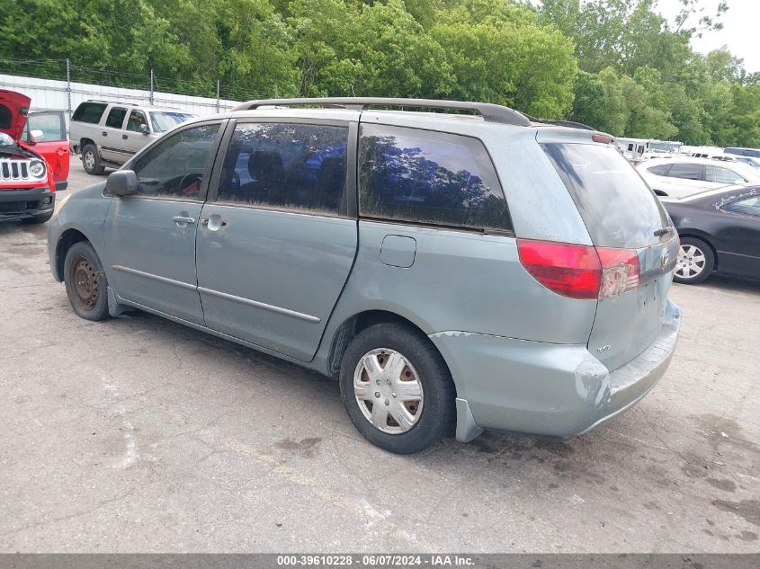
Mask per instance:
[[[359,368],[360,361],[369,352],[380,349],[398,351],[408,364],[411,365],[411,368],[408,366],[404,367],[401,374],[408,377],[410,369],[414,369],[416,371],[416,380],[422,386],[424,399],[419,404],[419,416],[414,415],[415,421],[407,431],[393,434],[381,431],[380,428],[375,427],[371,419],[362,412],[360,403],[354,394],[353,378],[354,373]],[[378,358],[378,361],[382,360],[381,355]],[[386,362],[388,361],[386,360]],[[380,370],[382,373],[385,373],[384,368]],[[360,376],[362,378],[365,377],[363,372]],[[378,385],[380,386],[380,384]],[[395,387],[390,387],[390,382],[388,385],[390,391],[396,390]],[[382,387],[385,388],[385,385]],[[374,388],[372,386],[372,389]],[[341,398],[344,401],[346,411],[353,425],[362,433],[365,439],[380,447],[380,449],[385,449],[396,454],[412,454],[427,449],[443,437],[450,436],[454,431],[456,423],[456,389],[454,388],[451,373],[433,343],[424,334],[418,333],[410,326],[397,323],[381,323],[372,325],[357,334],[343,356],[340,372],[340,391]],[[370,397],[377,396],[378,393],[380,391],[370,395]],[[396,397],[396,394],[393,394],[393,397]],[[364,405],[366,412],[371,413],[371,408],[374,405],[380,405],[383,402],[385,405],[389,405],[389,399],[385,399],[385,396],[380,396],[377,404],[364,401],[362,405]],[[407,404],[410,403],[412,402],[407,402]],[[406,406],[407,404],[393,402],[393,405]],[[382,410],[384,407],[380,407],[380,409]],[[409,409],[408,406],[407,409]],[[412,411],[414,411],[414,408],[412,408]],[[393,427],[389,423],[395,423],[396,427]],[[390,415],[388,415],[387,421],[385,421],[385,426],[390,429],[397,427],[401,429],[400,425]]]

